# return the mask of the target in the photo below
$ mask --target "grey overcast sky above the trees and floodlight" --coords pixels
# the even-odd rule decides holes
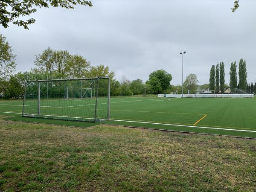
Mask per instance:
[[[164,69],[171,84],[198,76],[209,82],[213,64],[225,64],[229,84],[230,63],[244,58],[248,81],[256,79],[256,1],[241,0],[232,13],[233,0],[96,0],[93,7],[38,9],[29,30],[0,26],[13,52],[17,71],[33,67],[35,55],[47,47],[84,56],[92,65],[108,65],[120,80],[148,79]]]

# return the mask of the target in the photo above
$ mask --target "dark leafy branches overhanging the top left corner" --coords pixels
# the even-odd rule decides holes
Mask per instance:
[[[17,26],[23,26],[25,29],[29,29],[28,25],[35,23],[35,19],[19,20],[19,17],[26,17],[37,12],[36,8],[49,8],[49,6],[53,6],[74,9],[73,6],[77,4],[93,6],[92,3],[87,0],[1,0],[0,24],[4,28],[8,28],[9,23],[13,23]]]

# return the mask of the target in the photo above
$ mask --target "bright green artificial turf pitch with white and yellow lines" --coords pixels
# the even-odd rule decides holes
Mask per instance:
[[[42,107],[41,113],[79,116],[82,108],[88,108],[93,112],[93,108],[89,107],[92,105],[79,105],[82,104],[82,100],[73,101],[71,106],[65,101],[62,103],[42,101],[41,106],[49,106],[47,109]],[[105,101],[102,100],[102,103]],[[14,116],[9,119],[19,121],[80,127],[94,125],[86,122],[21,117],[22,105],[21,100],[0,101],[0,114]],[[105,114],[107,108],[103,105],[99,106],[101,106],[99,110],[103,111],[101,114]],[[64,114],[66,108],[70,110]],[[101,123],[256,138],[256,98],[113,97],[111,120]]]

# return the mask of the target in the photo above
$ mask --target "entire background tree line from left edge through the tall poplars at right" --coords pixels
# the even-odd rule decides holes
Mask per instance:
[[[42,53],[35,55],[34,67],[24,73],[13,73],[16,69],[16,55],[12,53],[12,47],[3,35],[0,35],[0,97],[22,98],[24,93],[24,81],[43,80],[43,79],[72,79],[109,76],[111,78],[111,96],[131,96],[147,94],[168,94],[182,92],[181,85],[171,85],[172,75],[165,70],[156,70],[149,74],[148,80],[142,79],[130,81],[126,76],[121,79],[115,79],[114,71],[108,66],[99,64],[92,66],[81,55],[72,55],[67,50],[53,50],[50,47]],[[241,87],[240,89],[248,92],[253,91],[253,83],[247,84],[246,62],[239,61],[239,83],[237,83],[236,61],[231,63],[230,67],[230,87]],[[204,89],[210,87],[211,90],[220,90],[224,92],[225,84],[224,63],[213,65],[210,70],[209,84],[201,86]],[[184,83],[184,93],[195,93],[198,87],[198,78],[196,74],[189,74]],[[208,86],[208,87],[207,87]]]

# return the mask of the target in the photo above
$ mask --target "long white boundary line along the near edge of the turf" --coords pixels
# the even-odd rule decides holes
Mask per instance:
[[[0,113],[14,113],[14,112],[0,111]],[[15,113],[15,114],[22,114],[22,113]],[[42,115],[42,116],[54,116],[54,115]],[[55,117],[90,119],[90,118],[73,117],[73,116],[55,116]],[[109,120],[110,120],[110,121],[119,121],[119,122],[135,122],[135,123],[154,124],[154,125],[169,125],[169,126],[177,126],[177,127],[192,127],[192,128],[218,129],[218,130],[226,130],[226,131],[244,131],[244,132],[253,132],[253,133],[256,133],[256,131],[241,130],[241,129],[212,128],[212,127],[201,127],[201,126],[192,126],[192,125],[175,125],[175,124],[167,124],[167,123],[154,123],[154,122],[141,122],[141,121],[126,121],[126,120],[116,120],[116,119],[109,119]]]

